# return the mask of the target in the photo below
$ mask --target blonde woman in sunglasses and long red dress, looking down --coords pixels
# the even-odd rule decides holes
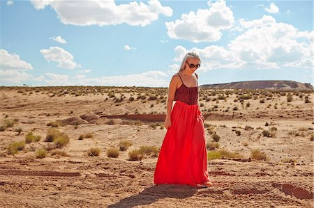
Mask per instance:
[[[184,56],[180,70],[169,85],[165,128],[155,184],[213,185],[207,173],[204,118],[198,104],[200,57],[194,52]],[[177,101],[172,109],[172,102]]]

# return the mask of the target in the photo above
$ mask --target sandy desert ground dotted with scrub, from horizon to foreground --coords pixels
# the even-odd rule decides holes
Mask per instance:
[[[154,184],[167,88],[0,95],[0,207],[314,207],[313,90],[200,88],[210,187]]]

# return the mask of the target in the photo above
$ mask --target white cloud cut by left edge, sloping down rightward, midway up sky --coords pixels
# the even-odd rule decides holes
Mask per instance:
[[[0,49],[0,69],[1,70],[32,70],[30,63],[22,61],[17,54],[9,54],[8,51]]]

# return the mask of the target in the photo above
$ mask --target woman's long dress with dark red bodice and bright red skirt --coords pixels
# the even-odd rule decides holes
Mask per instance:
[[[204,122],[197,99],[198,86],[189,88],[182,81],[174,95],[177,102],[170,115],[172,124],[167,129],[156,163],[155,184],[196,186],[210,181]]]

